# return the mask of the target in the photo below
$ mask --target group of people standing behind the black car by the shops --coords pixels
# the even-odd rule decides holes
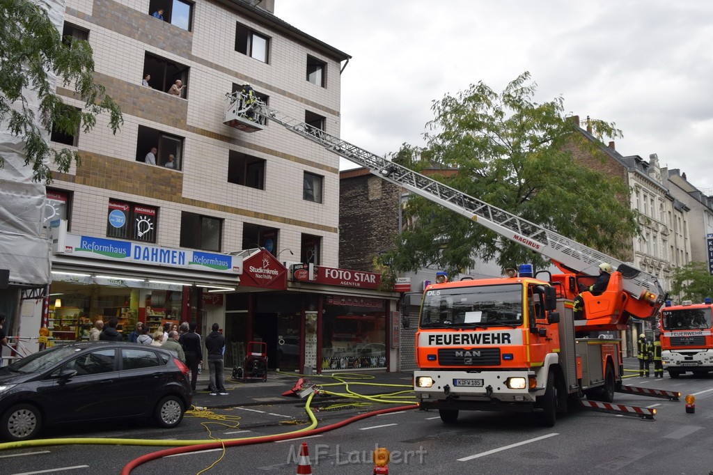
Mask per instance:
[[[94,322],[94,327],[89,332],[89,341],[117,341],[123,342],[123,335],[116,330],[118,319],[112,317],[106,325],[102,320]],[[136,330],[128,336],[130,343],[147,344],[163,347],[176,354],[190,370],[190,387],[195,392],[198,381],[198,367],[203,359],[202,342],[200,334],[195,332],[198,324],[183,322],[180,327],[175,324],[165,323],[163,328],[151,333],[144,322],[136,323]],[[220,326],[214,323],[210,327],[210,334],[205,338],[205,349],[208,357],[208,370],[210,372],[209,390],[211,396],[218,394],[225,396],[225,337],[219,331]],[[151,334],[150,334],[151,333]]]

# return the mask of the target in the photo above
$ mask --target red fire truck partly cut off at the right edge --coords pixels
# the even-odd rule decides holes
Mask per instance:
[[[661,309],[661,360],[672,378],[685,372],[705,376],[713,371],[713,303],[666,302]]]

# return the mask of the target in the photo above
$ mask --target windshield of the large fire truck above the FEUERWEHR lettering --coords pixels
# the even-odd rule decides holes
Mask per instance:
[[[426,290],[421,305],[421,328],[517,327],[522,322],[520,284]]]

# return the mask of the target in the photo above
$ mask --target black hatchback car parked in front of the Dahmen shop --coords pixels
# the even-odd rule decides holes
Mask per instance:
[[[160,347],[72,343],[0,369],[0,437],[32,439],[42,427],[153,417],[175,427],[193,399],[188,367]]]

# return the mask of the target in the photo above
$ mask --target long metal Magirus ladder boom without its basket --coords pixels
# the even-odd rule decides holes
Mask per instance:
[[[233,101],[242,100],[240,93],[233,93],[228,96],[229,101],[231,98]],[[509,240],[539,252],[553,260],[558,267],[564,267],[563,270],[597,275],[597,266],[601,262],[609,262],[613,268],[622,273],[624,290],[631,297],[635,299],[645,298],[651,302],[657,302],[659,305],[655,305],[653,312],[657,311],[663,302],[665,292],[654,275],[638,270],[621,260],[602,254],[602,252],[581,245],[568,237],[553,233],[553,231],[547,230],[540,225],[530,223],[528,220],[518,218],[518,216],[505,210],[461,193],[455,188],[443,185],[443,183],[439,183],[433,178],[416,173],[414,170],[409,170],[409,168],[398,163],[381,158],[379,155],[374,155],[374,153],[343,141],[341,138],[331,136],[319,128],[285,116],[262,101],[258,101],[255,104],[252,113],[260,118],[261,123],[265,123],[266,120],[275,121],[290,131],[307,138],[307,140],[318,143],[327,148],[327,150],[332,150],[337,155],[367,168],[371,173],[384,180],[434,201],[445,208],[466,216],[466,218],[477,221]],[[647,315],[639,317],[647,317]]]

